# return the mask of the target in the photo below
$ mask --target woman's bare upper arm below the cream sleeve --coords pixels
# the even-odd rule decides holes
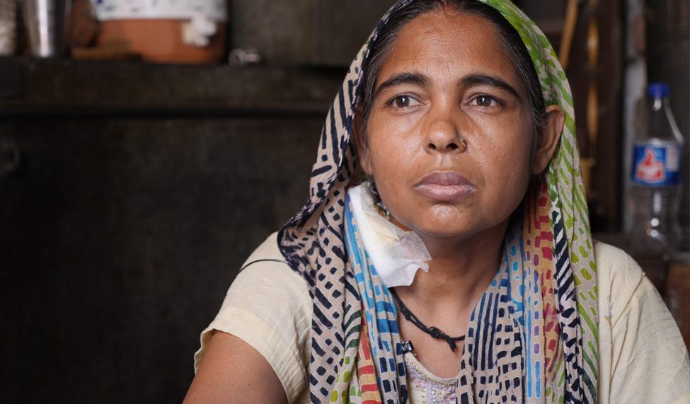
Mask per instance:
[[[287,395],[268,361],[243,340],[216,331],[183,404],[280,403]]]

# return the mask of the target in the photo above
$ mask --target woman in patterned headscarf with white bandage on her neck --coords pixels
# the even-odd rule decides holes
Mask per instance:
[[[393,6],[330,110],[309,202],[238,275],[185,402],[689,402],[658,294],[592,243],[574,127],[510,2]]]

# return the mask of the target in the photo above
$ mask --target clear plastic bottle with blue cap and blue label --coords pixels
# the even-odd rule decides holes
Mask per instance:
[[[683,137],[669,106],[667,83],[650,83],[648,105],[640,117],[633,151],[631,243],[636,253],[678,250]]]

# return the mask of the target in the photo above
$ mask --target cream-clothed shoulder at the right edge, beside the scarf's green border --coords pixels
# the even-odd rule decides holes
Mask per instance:
[[[690,362],[659,292],[633,258],[594,243],[599,403],[687,403]]]

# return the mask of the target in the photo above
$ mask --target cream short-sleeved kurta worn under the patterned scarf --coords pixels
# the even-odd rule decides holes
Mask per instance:
[[[273,233],[246,263],[282,260]],[[594,244],[599,297],[600,404],[690,404],[690,359],[652,283],[626,253]],[[245,263],[245,264],[246,264]],[[214,330],[246,341],[268,360],[289,403],[309,403],[312,301],[306,282],[281,262],[240,272],[215,320],[201,334],[198,369]],[[410,403],[422,392],[408,381]]]

